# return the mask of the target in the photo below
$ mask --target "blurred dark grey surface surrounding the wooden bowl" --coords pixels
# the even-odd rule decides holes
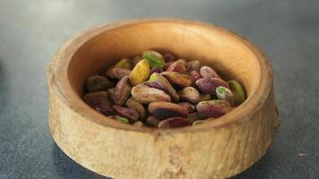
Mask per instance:
[[[319,178],[319,1],[169,2],[0,0],[0,178],[103,178],[50,136],[46,68],[74,34],[142,17],[213,22],[261,47],[272,61],[281,124],[272,149],[235,178]]]

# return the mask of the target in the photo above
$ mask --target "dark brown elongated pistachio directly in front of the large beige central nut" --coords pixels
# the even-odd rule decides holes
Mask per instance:
[[[188,115],[186,107],[170,102],[151,102],[149,111],[151,115],[154,115],[161,120],[170,117],[186,117]]]

